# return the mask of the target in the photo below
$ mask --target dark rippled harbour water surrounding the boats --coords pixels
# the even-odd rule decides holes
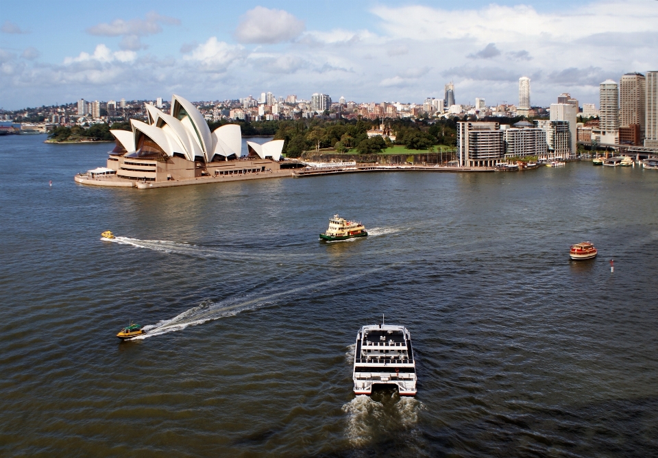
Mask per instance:
[[[43,138],[0,138],[1,455],[657,456],[656,171],[140,191],[75,184],[107,145]],[[373,236],[319,243],[334,213]],[[415,399],[352,394],[382,313]]]

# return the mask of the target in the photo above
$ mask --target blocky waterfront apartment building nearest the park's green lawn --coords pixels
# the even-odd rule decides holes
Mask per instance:
[[[457,123],[457,149],[462,167],[493,167],[504,156],[503,131],[498,123]]]

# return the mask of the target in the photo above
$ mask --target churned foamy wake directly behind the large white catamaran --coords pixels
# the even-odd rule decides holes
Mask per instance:
[[[412,428],[425,406],[416,398],[399,397],[393,392],[382,402],[362,394],[343,404],[342,409],[347,414],[345,437],[352,446],[360,447],[376,437],[390,436]]]

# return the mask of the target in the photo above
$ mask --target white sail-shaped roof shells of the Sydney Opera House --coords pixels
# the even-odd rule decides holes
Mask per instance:
[[[178,155],[191,161],[212,162],[239,158],[242,154],[242,131],[239,125],[222,125],[210,132],[201,112],[179,95],[173,95],[169,115],[152,105],[147,104],[146,108],[148,123],[131,119],[132,132],[110,130],[127,156]],[[265,145],[248,143],[260,158],[281,158],[282,140]]]

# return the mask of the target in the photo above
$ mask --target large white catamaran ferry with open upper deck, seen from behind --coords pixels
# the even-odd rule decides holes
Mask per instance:
[[[416,365],[411,335],[404,326],[373,324],[356,335],[354,394],[371,394],[373,385],[395,385],[400,396],[415,396]]]

